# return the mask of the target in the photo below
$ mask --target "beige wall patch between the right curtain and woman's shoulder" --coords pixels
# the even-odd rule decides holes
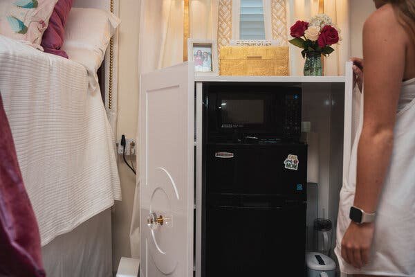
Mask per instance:
[[[351,33],[351,56],[363,57],[362,53],[362,30],[363,24],[369,15],[374,12],[375,4],[371,0],[349,0],[350,1],[350,33]]]

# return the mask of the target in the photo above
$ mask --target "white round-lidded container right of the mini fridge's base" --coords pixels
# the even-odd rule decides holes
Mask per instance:
[[[322,253],[307,253],[306,263],[307,277],[335,277],[335,262]]]

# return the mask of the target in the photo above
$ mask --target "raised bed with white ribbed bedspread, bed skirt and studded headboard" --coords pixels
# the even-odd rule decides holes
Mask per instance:
[[[74,6],[117,12],[117,4],[80,0]],[[113,274],[111,206],[121,199],[113,136],[117,41],[116,35],[98,86],[82,60],[0,36],[0,91],[48,276]]]

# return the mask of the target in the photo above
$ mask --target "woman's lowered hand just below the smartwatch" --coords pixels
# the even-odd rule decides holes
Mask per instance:
[[[342,258],[358,269],[369,263],[374,222],[357,224],[351,222],[342,240]]]

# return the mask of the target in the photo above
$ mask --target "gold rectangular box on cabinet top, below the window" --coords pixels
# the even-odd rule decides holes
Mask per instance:
[[[219,56],[220,75],[287,76],[288,47],[222,46]]]

